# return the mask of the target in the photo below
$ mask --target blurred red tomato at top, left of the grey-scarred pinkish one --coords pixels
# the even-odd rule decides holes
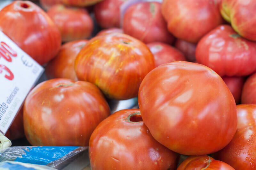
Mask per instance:
[[[127,0],[104,0],[93,8],[97,23],[102,28],[120,27],[120,6]]]

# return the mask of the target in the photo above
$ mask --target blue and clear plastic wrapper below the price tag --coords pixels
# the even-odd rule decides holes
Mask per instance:
[[[0,162],[9,160],[62,169],[84,154],[87,148],[79,146],[14,146],[0,150]]]

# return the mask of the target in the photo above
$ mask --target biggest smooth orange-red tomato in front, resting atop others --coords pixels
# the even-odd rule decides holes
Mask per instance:
[[[236,132],[236,103],[222,78],[197,63],[156,67],[139,89],[141,116],[152,136],[174,152],[204,155],[225,147]]]

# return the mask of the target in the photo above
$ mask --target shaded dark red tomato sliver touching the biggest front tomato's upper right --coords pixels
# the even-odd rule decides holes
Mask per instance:
[[[241,99],[241,93],[244,85],[244,77],[222,77],[230,92],[232,93],[236,104],[239,104]]]

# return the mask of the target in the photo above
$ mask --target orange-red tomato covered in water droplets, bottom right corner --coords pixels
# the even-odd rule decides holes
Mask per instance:
[[[256,168],[256,105],[237,105],[238,124],[232,141],[217,153],[217,159],[236,170]]]

